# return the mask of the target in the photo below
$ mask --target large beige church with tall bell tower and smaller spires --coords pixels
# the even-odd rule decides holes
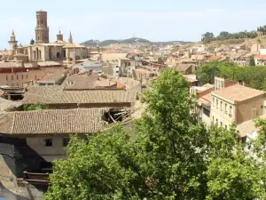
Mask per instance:
[[[11,40],[9,41],[12,55],[5,58],[5,60],[13,60],[15,56],[17,56],[18,61],[22,61],[21,59],[23,61],[72,61],[89,57],[89,49],[80,44],[74,44],[71,33],[68,43],[64,41],[64,37],[60,32],[57,35],[57,41],[50,43],[47,17],[47,12],[36,12],[35,41],[32,40],[29,45],[20,44],[18,46],[12,31]],[[27,56],[27,59],[22,55]]]

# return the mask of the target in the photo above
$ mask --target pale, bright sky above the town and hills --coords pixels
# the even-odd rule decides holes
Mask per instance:
[[[200,40],[207,31],[254,30],[266,25],[266,1],[244,0],[12,0],[0,4],[0,49],[12,29],[19,44],[35,39],[35,12],[48,12],[50,42],[142,37],[153,42]]]

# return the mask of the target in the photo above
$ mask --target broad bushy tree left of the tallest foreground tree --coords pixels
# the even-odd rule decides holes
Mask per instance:
[[[121,126],[88,140],[72,138],[67,159],[54,162],[48,200],[143,199],[149,188]]]

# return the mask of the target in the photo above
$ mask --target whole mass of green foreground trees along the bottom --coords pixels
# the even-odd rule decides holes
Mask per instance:
[[[167,69],[152,86],[143,97],[145,114],[132,129],[118,125],[88,140],[71,140],[67,159],[54,162],[45,199],[266,197],[265,164],[246,156],[234,127],[207,131],[197,123],[183,76]],[[135,140],[129,138],[132,132]],[[258,155],[264,138],[254,144]]]

